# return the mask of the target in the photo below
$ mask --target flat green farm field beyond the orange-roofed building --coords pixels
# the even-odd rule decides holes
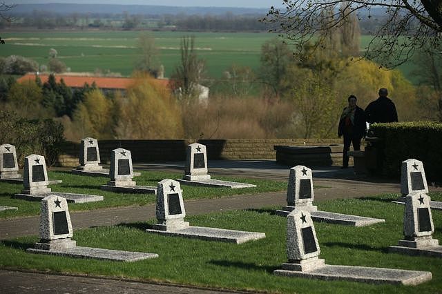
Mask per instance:
[[[276,35],[253,32],[152,32],[155,46],[159,48],[160,62],[166,77],[180,60],[180,39],[195,35],[198,56],[206,60],[209,77],[218,78],[229,66],[249,66],[257,70],[260,66],[262,43]],[[50,48],[55,48],[58,57],[73,72],[103,71],[131,75],[137,59],[137,37],[140,31],[34,31],[2,32],[6,44],[1,46],[0,56],[22,55],[39,64],[48,62]],[[361,50],[370,36],[361,37]],[[405,63],[398,69],[412,82],[413,64]]]

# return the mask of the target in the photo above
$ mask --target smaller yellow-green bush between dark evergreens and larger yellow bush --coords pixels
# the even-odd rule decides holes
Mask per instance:
[[[113,101],[99,89],[86,93],[74,112],[81,137],[113,139]]]

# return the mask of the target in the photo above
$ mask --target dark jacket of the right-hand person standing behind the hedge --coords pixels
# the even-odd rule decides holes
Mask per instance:
[[[379,97],[365,108],[365,117],[370,124],[398,121],[396,106],[390,98]]]

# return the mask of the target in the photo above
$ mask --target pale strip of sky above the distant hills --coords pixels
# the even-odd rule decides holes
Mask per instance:
[[[160,6],[204,6],[204,7],[245,7],[269,8],[282,6],[282,0],[6,0],[6,3],[99,3],[137,4]]]

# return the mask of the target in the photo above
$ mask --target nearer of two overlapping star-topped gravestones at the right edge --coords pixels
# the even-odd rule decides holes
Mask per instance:
[[[430,197],[425,193],[407,195],[403,215],[404,239],[399,240],[398,246],[390,246],[390,252],[442,257],[442,246],[439,246],[439,240],[432,238],[433,233]]]

